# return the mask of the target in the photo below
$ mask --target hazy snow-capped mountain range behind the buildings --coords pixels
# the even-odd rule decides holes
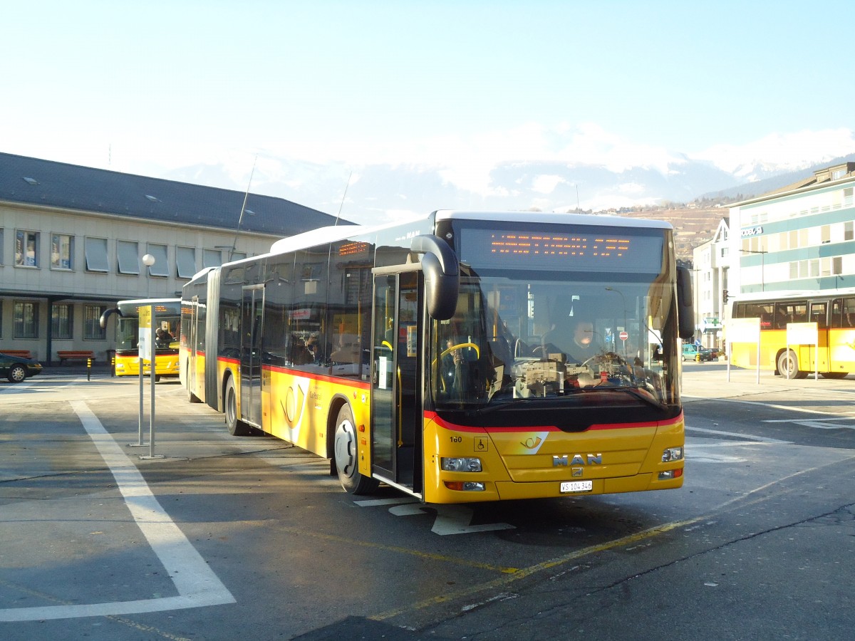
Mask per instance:
[[[799,163],[768,160],[733,163],[669,158],[657,167],[607,168],[561,162],[503,162],[477,188],[463,186],[448,168],[422,165],[312,163],[266,156],[256,166],[194,165],[163,178],[251,191],[340,215],[363,224],[392,221],[433,209],[540,209],[544,211],[633,208],[689,203],[699,197],[750,197],[790,184],[815,168],[855,155]],[[251,171],[250,171],[251,170]],[[459,168],[457,169],[459,172]],[[250,181],[251,174],[251,181]]]

